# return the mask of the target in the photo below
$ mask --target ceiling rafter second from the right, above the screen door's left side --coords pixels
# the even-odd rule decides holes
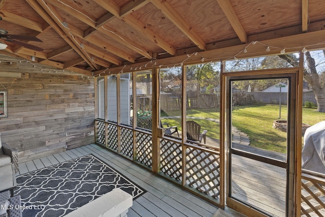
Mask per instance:
[[[228,21],[233,26],[240,41],[243,43],[247,43],[247,34],[240,20],[238,19],[230,0],[217,0],[217,2],[224,15],[227,17]]]

